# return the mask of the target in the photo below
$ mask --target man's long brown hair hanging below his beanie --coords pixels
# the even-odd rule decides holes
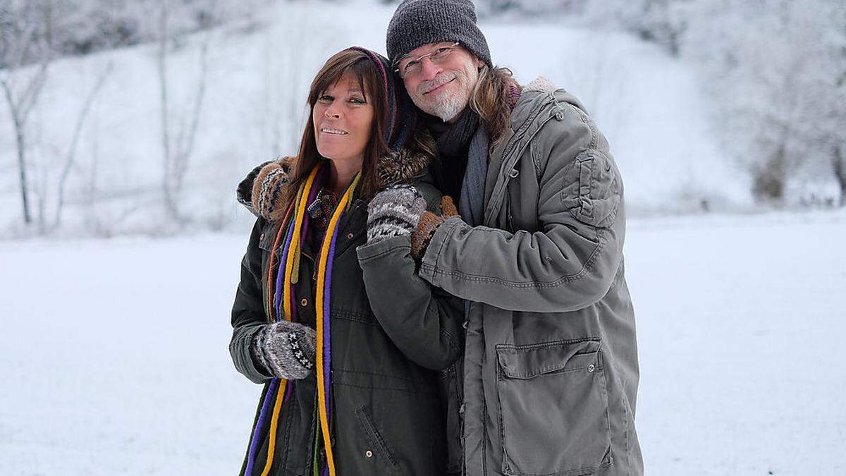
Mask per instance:
[[[520,88],[511,69],[485,64],[479,69],[479,80],[470,95],[470,108],[487,124],[491,148],[503,140],[511,121],[511,86]]]

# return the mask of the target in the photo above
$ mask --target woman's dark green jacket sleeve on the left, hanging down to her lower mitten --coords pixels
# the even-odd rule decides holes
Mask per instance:
[[[253,335],[266,324],[264,306],[261,303],[261,248],[259,239],[265,221],[258,219],[250,234],[250,244],[241,260],[241,280],[235,291],[232,307],[232,340],[229,353],[235,368],[247,379],[263,384],[270,380],[270,375],[256,365],[250,355]]]

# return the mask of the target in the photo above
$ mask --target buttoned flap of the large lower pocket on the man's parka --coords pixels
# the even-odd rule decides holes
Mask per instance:
[[[503,374],[511,379],[531,379],[541,374],[602,368],[599,340],[559,340],[542,344],[497,346]]]

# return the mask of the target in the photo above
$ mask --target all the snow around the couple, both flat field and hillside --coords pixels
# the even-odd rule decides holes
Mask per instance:
[[[260,387],[228,355],[246,243],[232,230],[250,224],[234,185],[255,163],[294,152],[319,66],[351,45],[384,52],[392,13],[372,3],[285,3],[256,14],[260,25],[208,34],[182,230],[162,224],[156,45],[52,64],[30,127],[30,180],[46,187],[48,217],[75,114],[113,64],[54,238],[229,231],[0,241],[0,474],[237,473]],[[846,473],[846,215],[667,216],[705,202],[750,208],[748,174],[719,146],[698,69],[613,31],[488,20],[481,29],[493,61],[522,83],[545,75],[585,102],[624,175],[636,217],[626,259],[646,473]],[[185,38],[170,57],[176,125],[205,39]],[[3,237],[25,235],[14,160],[3,112]]]

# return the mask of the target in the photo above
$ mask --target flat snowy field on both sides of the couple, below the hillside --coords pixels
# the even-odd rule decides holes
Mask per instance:
[[[232,475],[246,236],[0,243],[0,474]],[[846,215],[629,223],[652,475],[844,474]]]

